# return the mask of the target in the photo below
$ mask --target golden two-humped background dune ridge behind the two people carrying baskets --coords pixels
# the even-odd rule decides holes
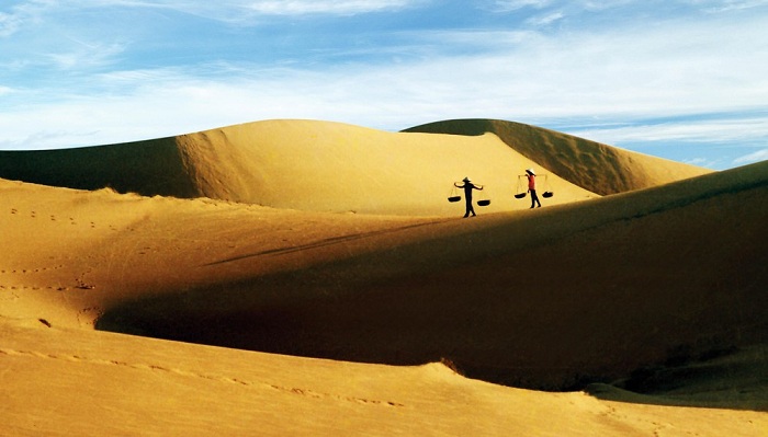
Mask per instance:
[[[467,122],[461,126],[478,135],[456,136],[259,122],[124,145],[0,152],[0,177],[276,208],[425,216],[455,214],[445,198],[465,176],[485,186],[478,197],[492,200],[487,211],[499,211],[528,206],[512,195],[531,166],[542,174],[540,185],[556,193],[550,204],[707,172],[541,128],[488,123],[488,134]]]

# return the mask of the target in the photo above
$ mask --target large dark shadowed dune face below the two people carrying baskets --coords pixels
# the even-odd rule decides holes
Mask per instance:
[[[365,363],[448,358],[487,381],[581,388],[768,337],[767,195],[763,163],[126,301],[97,326]]]

